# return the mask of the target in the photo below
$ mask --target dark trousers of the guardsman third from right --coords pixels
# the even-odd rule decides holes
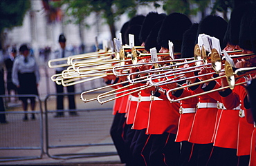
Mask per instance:
[[[210,155],[212,154],[212,143],[208,144],[194,144],[192,157],[190,163],[196,163],[197,166],[205,166],[208,163]]]

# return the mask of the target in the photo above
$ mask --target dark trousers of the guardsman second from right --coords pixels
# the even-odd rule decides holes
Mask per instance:
[[[232,166],[237,165],[237,163],[237,149],[213,147],[208,166]]]

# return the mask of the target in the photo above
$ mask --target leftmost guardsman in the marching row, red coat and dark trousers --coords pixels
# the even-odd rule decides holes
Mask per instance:
[[[121,33],[125,34],[123,38],[125,42],[127,41],[128,34],[134,34],[134,36],[138,37],[141,24],[144,18],[145,17],[143,15],[138,15],[122,26]],[[113,79],[114,81],[112,84],[120,83],[120,81],[123,81],[122,79],[123,78],[116,77],[115,79]],[[107,79],[106,81],[109,82]],[[118,87],[122,87],[122,85],[118,85]],[[122,91],[123,90],[118,90],[117,92],[122,92]],[[117,94],[117,96],[120,96],[122,94],[123,93]],[[127,142],[126,142],[127,141],[126,133],[127,133],[127,129],[129,128],[127,127],[127,124],[126,124],[126,114],[127,114],[126,111],[127,111],[128,97],[129,96],[123,96],[121,98],[117,98],[114,103],[113,115],[115,116],[113,119],[113,123],[111,125],[110,134],[111,134],[113,143],[116,146],[116,149],[118,151],[118,155],[120,156],[121,163],[127,163],[127,165],[130,165],[129,162],[131,162],[131,155],[130,155],[131,153],[129,152],[129,147],[127,147]]]

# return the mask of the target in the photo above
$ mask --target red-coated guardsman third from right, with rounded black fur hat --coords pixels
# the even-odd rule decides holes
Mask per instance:
[[[220,39],[220,43],[222,44],[223,40],[221,39],[224,37],[226,27],[227,23],[221,17],[209,15],[200,21],[197,32],[198,34],[204,33],[211,37],[216,37]],[[205,72],[208,72],[208,70],[201,70],[199,74],[204,74]],[[200,80],[194,79],[194,81],[198,82]],[[190,82],[192,83],[193,81]],[[194,85],[190,87],[190,90],[199,94],[203,92],[202,88],[202,85]],[[190,143],[194,143],[190,161],[195,161],[197,165],[206,165],[212,153],[212,137],[214,136],[216,127],[217,111],[217,101],[214,98],[211,98],[208,94],[199,96],[199,103],[197,104],[197,110],[188,140]]]

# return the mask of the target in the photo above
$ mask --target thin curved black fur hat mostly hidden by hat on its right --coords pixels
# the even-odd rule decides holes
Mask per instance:
[[[157,12],[149,12],[143,21],[143,26],[140,30],[140,42],[145,42],[147,35],[152,30],[155,23],[165,19],[166,14],[158,14]]]

